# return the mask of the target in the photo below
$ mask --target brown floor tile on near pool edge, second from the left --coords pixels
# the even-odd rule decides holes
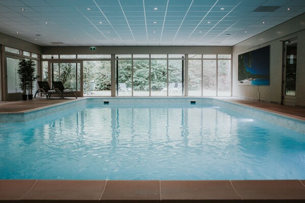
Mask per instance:
[[[106,181],[38,180],[24,195],[23,202],[69,201],[98,202]]]

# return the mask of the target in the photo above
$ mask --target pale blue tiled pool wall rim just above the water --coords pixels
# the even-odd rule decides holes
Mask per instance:
[[[149,102],[147,102],[149,101]],[[0,123],[19,123],[19,122],[30,122],[36,119],[45,118],[49,115],[56,114],[57,117],[64,115],[68,110],[73,108],[85,107],[87,103],[110,105],[113,104],[135,104],[145,105],[147,103],[159,103],[167,102],[168,105],[174,103],[184,103],[187,105],[195,101],[195,105],[211,105],[220,106],[223,109],[233,110],[235,112],[249,115],[250,118],[260,119],[281,127],[285,127],[289,130],[305,134],[305,121],[288,117],[286,115],[261,110],[259,108],[249,107],[243,104],[237,104],[234,102],[223,101],[221,99],[214,98],[84,98],[65,103],[55,104],[44,108],[38,108],[34,110],[23,111],[19,113],[0,113]],[[109,102],[105,104],[104,102]]]

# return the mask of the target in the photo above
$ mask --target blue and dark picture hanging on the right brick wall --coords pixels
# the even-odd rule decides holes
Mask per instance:
[[[270,85],[270,46],[238,55],[238,82]]]

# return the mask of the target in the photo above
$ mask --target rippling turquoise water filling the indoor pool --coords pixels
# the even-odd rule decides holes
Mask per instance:
[[[207,102],[91,100],[0,124],[0,179],[305,179],[305,135]]]

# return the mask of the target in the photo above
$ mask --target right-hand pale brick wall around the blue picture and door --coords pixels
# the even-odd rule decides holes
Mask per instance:
[[[233,46],[233,96],[282,102],[283,41],[297,38],[296,105],[305,106],[305,14]],[[242,85],[238,82],[238,55],[270,45],[270,85]]]

